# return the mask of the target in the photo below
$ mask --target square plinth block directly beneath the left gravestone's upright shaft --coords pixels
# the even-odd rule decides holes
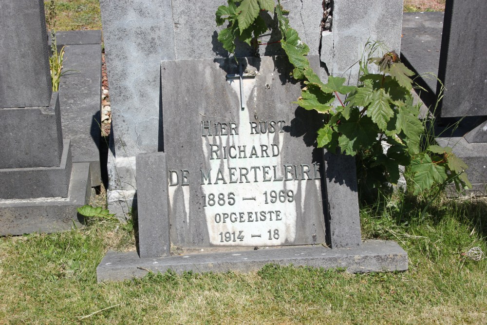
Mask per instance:
[[[58,167],[63,151],[58,94],[47,107],[0,108],[0,132],[0,169]]]

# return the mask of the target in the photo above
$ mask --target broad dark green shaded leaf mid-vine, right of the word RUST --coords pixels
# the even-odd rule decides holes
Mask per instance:
[[[352,109],[350,119],[341,119],[337,125],[338,145],[342,152],[355,156],[361,149],[367,149],[377,141],[379,129],[368,116],[359,116],[358,109]]]

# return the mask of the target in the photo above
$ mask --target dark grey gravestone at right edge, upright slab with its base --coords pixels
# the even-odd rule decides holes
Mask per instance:
[[[438,138],[449,144],[469,168],[475,194],[487,195],[487,2],[447,0],[438,78],[445,91],[441,117],[467,116],[463,137]],[[437,86],[437,94],[440,91]],[[469,118],[470,117],[470,118]]]

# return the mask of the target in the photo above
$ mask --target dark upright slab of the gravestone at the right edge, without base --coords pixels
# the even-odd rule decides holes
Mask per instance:
[[[438,69],[445,85],[442,117],[487,115],[486,16],[485,0],[446,2]]]

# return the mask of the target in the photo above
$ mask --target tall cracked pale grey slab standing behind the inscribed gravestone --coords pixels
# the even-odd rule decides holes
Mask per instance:
[[[330,74],[356,82],[357,66],[368,39],[383,40],[399,51],[402,1],[283,0],[290,24],[320,55]],[[161,60],[228,57],[218,42],[215,11],[225,0],[100,0],[112,106],[112,138],[108,159],[108,205],[127,217],[136,191],[135,156],[164,151],[160,103]],[[323,17],[325,14],[326,17]],[[270,16],[265,19],[272,19]],[[322,21],[325,20],[325,21]],[[259,55],[283,54],[262,38]],[[238,57],[255,51],[238,47]],[[352,81],[350,81],[352,80]]]

